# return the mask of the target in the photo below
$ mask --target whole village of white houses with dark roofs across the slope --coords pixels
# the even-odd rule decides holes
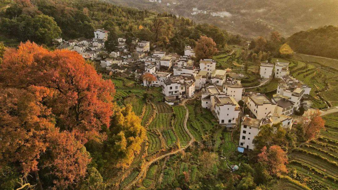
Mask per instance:
[[[279,79],[276,94],[268,98],[263,93],[245,89],[232,70],[219,70],[213,59],[193,61],[194,50],[186,46],[184,55],[150,51],[150,42],[133,39],[131,46],[125,38],[118,38],[113,52],[106,52],[104,42],[108,31],[97,29],[93,39],[77,38],[59,43],[58,49],[78,52],[84,59],[96,61],[103,73],[139,81],[145,87],[162,87],[164,102],[170,106],[179,105],[185,99],[197,97],[203,108],[209,109],[219,125],[228,129],[240,125],[238,148],[254,149],[252,140],[259,133],[260,126],[282,123],[291,129],[295,111],[309,108],[311,87],[290,76],[287,62],[268,61],[260,64],[262,81]],[[108,56],[107,56],[108,55]]]

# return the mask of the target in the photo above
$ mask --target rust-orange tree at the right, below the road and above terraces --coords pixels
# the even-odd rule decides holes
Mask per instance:
[[[301,121],[304,137],[308,140],[313,139],[321,129],[324,129],[324,124],[325,120],[321,118],[319,110],[307,112]]]

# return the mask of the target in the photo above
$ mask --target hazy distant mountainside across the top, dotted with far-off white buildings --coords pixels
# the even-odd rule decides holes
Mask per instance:
[[[273,30],[287,37],[309,28],[338,25],[337,0],[162,0],[162,3],[149,0],[109,1],[141,9],[168,11],[196,22],[212,23],[247,37],[266,37]],[[192,15],[193,8],[202,13]],[[210,15],[211,12],[222,11],[225,11],[224,18]]]

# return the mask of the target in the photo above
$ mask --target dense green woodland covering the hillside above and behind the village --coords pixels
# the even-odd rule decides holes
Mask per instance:
[[[167,13],[155,14],[96,0],[37,0],[34,4],[18,0],[3,13],[0,28],[4,34],[22,41],[31,39],[46,45],[59,35],[66,40],[91,38],[94,29],[105,28],[112,36],[137,37],[181,54],[186,45],[194,47],[201,35],[213,38],[220,48],[229,42],[241,42],[240,36],[215,26],[196,25],[189,19]],[[48,32],[42,35],[44,31]]]

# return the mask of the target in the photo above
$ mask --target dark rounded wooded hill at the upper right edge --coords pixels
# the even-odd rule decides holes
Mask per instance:
[[[296,52],[338,59],[338,27],[325,26],[301,31],[287,39]]]

